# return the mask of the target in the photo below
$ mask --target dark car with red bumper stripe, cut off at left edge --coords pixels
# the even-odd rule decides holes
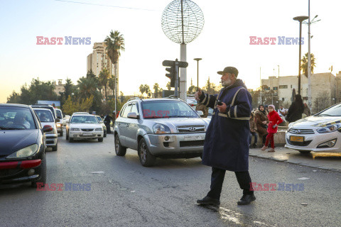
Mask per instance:
[[[0,184],[46,181],[44,133],[30,106],[0,104]]]

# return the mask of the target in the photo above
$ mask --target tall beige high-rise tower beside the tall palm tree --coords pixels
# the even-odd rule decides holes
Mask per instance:
[[[118,64],[117,64],[118,67]],[[87,55],[87,71],[92,70],[92,72],[99,76],[99,73],[107,68],[109,74],[114,75],[114,65],[107,55],[105,43],[94,43],[93,51],[90,55]],[[119,94],[119,77],[117,77],[117,94]],[[104,89],[102,89],[102,94],[104,94]],[[112,89],[107,89],[108,95],[113,95]]]

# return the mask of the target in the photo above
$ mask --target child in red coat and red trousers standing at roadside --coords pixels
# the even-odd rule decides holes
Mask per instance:
[[[277,133],[277,128],[280,123],[282,123],[282,118],[278,115],[275,110],[274,105],[268,106],[269,114],[269,125],[268,125],[268,135],[266,136],[265,145],[261,150],[266,150],[269,143],[271,143],[271,149],[268,150],[269,152],[275,152],[275,144],[274,144],[274,134]]]

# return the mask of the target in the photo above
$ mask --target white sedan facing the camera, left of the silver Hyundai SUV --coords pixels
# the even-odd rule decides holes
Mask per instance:
[[[66,124],[66,139],[98,139],[103,142],[103,128],[97,118],[90,114],[74,114]]]

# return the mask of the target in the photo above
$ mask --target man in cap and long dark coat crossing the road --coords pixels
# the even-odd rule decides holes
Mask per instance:
[[[213,109],[210,125],[207,128],[202,164],[212,167],[210,191],[197,203],[219,205],[222,183],[226,170],[237,177],[243,196],[238,205],[254,201],[254,191],[250,189],[249,175],[249,118],[251,114],[251,95],[242,79],[237,79],[235,67],[225,67],[217,72],[222,77],[220,94],[209,95],[195,92],[195,99]]]

